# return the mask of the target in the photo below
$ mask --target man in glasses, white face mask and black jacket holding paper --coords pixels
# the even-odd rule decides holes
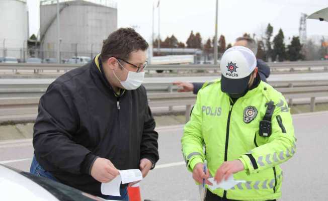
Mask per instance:
[[[147,48],[133,29],[118,29],[92,63],[49,85],[34,125],[31,173],[128,200],[126,185],[114,197],[101,193],[101,183],[123,169],[139,168],[145,177],[158,160],[158,134],[141,85]]]

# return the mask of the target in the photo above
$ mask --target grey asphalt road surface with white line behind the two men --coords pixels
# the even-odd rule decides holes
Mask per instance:
[[[328,112],[293,116],[297,137],[296,154],[282,164],[283,196],[279,200],[327,200]],[[156,168],[141,182],[143,199],[199,200],[198,187],[186,170],[181,154],[183,127],[161,127]],[[29,170],[31,140],[0,142],[0,163]]]

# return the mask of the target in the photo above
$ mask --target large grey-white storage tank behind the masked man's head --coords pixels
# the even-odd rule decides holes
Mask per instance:
[[[59,0],[60,58],[95,56],[117,29],[112,0]],[[57,57],[57,1],[40,2],[40,42],[43,58]]]

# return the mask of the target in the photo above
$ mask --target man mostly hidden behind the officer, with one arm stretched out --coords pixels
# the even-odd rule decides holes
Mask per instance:
[[[253,53],[256,55],[258,52],[258,46],[254,39],[250,37],[239,37],[236,39],[236,42],[234,43],[234,46],[243,46],[247,47],[250,50],[253,51]],[[257,59],[257,67],[259,68],[259,75],[262,81],[267,82],[267,78],[270,75],[270,67],[262,60]],[[178,85],[181,87],[178,89],[179,92],[189,92],[193,91],[194,94],[197,94],[198,91],[202,88],[204,82],[182,82],[182,81],[175,81],[173,84]]]

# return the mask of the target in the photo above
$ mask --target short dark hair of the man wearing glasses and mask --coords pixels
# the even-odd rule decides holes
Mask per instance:
[[[145,51],[148,43],[132,28],[120,28],[104,40],[100,58],[105,62],[110,57],[129,59],[130,53],[138,50]]]

